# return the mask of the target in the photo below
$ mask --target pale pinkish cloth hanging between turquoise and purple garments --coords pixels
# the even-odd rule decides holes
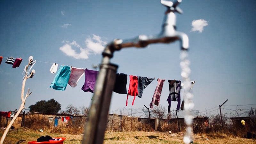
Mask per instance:
[[[68,80],[68,84],[71,87],[76,87],[76,84],[82,78],[83,75],[84,75],[84,69],[75,68],[71,66],[71,74]]]

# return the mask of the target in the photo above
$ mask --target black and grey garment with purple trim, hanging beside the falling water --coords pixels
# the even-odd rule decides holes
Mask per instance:
[[[168,105],[168,112],[171,110],[171,101],[178,101],[176,110],[180,110],[180,80],[168,80],[169,82],[169,96],[167,98]]]

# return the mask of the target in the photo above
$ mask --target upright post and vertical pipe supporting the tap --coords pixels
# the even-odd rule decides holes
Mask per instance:
[[[84,128],[82,144],[103,143],[104,140],[108,121],[108,110],[116,82],[116,70],[118,67],[116,64],[109,63],[112,55],[106,53],[106,51],[108,52],[108,46],[106,49],[102,53],[102,64],[100,65],[100,72],[95,83],[89,119]]]

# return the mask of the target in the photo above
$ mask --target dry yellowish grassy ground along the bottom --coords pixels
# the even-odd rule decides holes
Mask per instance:
[[[0,130],[0,137],[4,130]],[[59,133],[47,133],[47,132],[35,132],[28,129],[11,130],[4,143],[16,144],[18,141],[25,140],[21,144],[28,143],[28,141],[34,141],[40,136],[50,135],[51,137],[66,137],[65,144],[79,144],[81,143],[82,135],[75,134],[59,134]],[[208,138],[208,140],[206,140]],[[104,139],[105,144],[126,144],[126,143],[182,143],[183,135],[180,134],[168,134],[166,132],[106,132]],[[256,140],[245,139],[239,137],[227,136],[225,134],[211,134],[211,135],[194,135],[195,144],[255,144]]]

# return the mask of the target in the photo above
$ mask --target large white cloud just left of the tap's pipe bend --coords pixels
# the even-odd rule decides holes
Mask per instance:
[[[100,36],[95,34],[92,34],[92,37],[85,39],[85,48],[82,48],[76,41],[62,42],[65,44],[60,47],[60,51],[65,55],[76,59],[88,59],[90,54],[100,54],[107,44],[107,42],[103,41]],[[74,47],[72,48],[72,46]],[[79,53],[77,53],[76,49],[79,49]]]

